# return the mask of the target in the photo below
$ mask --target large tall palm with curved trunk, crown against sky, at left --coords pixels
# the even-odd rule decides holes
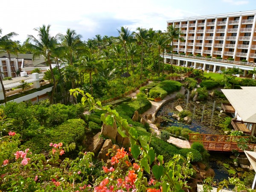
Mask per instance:
[[[32,41],[32,43],[28,44],[29,48],[34,50],[33,59],[36,57],[40,57],[40,55],[44,55],[44,58],[46,60],[47,66],[50,68],[50,72],[52,75],[52,81],[53,81],[53,87],[52,87],[52,94],[50,96],[50,103],[53,103],[53,96],[55,93],[55,87],[56,87],[56,80],[55,76],[53,74],[52,70],[52,52],[54,52],[54,49],[56,48],[57,41],[56,39],[50,35],[50,25],[42,27],[35,28],[35,31],[38,32],[38,39],[35,38],[33,35],[28,35],[29,41]]]

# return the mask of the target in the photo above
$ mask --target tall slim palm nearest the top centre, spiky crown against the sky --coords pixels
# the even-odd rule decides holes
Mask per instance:
[[[132,35],[131,35],[130,30],[128,29],[128,27],[123,27],[122,26],[121,29],[120,30],[117,29],[117,31],[119,32],[119,36],[116,39],[117,39],[117,41],[119,41],[122,44],[122,46],[125,49],[126,69],[127,69],[127,73],[129,73],[126,45],[131,41]]]

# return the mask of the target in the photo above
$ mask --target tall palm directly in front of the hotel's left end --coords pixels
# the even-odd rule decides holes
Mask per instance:
[[[173,40],[183,41],[184,39],[182,37],[180,37],[180,35],[182,35],[180,28],[176,28],[175,25],[170,25],[167,27],[166,35],[169,39],[172,56],[173,56]],[[172,66],[172,61],[173,61],[173,59],[171,59],[171,66]],[[171,73],[172,73],[172,67],[171,67]]]

